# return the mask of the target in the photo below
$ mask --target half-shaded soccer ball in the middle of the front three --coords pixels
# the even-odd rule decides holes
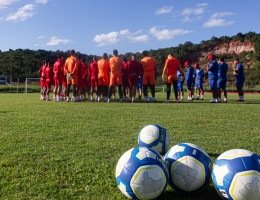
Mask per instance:
[[[212,162],[199,146],[181,143],[173,146],[164,157],[169,183],[179,192],[200,192],[209,185]]]

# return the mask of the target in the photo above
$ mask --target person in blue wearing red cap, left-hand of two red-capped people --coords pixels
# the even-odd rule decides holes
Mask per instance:
[[[192,67],[189,60],[185,61],[184,66],[187,68],[186,71],[186,84],[187,84],[187,92],[188,92],[188,101],[192,101],[192,95],[194,90],[194,74],[195,70]]]

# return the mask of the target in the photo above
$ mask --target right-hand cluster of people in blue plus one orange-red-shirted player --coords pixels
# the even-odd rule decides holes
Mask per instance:
[[[209,87],[212,92],[211,103],[227,103],[227,72],[229,70],[228,64],[225,62],[224,58],[219,58],[217,61],[214,54],[208,55],[208,65],[207,65],[207,77],[209,82]],[[167,86],[167,99],[169,101],[171,94],[171,85],[173,85],[173,90],[175,94],[175,100],[178,102],[183,99],[183,84],[186,82],[187,86],[187,100],[192,101],[193,99],[203,99],[204,89],[203,83],[205,80],[204,70],[200,67],[198,63],[195,66],[191,65],[190,60],[186,60],[184,63],[185,73],[180,67],[180,62],[173,57],[171,54],[165,62],[163,69],[162,79],[166,82]],[[245,82],[244,66],[236,58],[232,66],[233,75],[235,76],[235,85],[237,88],[239,102],[244,101],[244,91],[243,86]],[[197,97],[194,97],[194,91],[197,90]],[[221,93],[224,93],[224,98],[221,99]]]

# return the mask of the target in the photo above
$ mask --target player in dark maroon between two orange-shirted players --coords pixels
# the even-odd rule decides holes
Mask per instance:
[[[139,76],[143,76],[143,68],[141,63],[136,59],[136,56],[133,55],[129,61],[129,88],[132,102],[134,102],[136,97]]]

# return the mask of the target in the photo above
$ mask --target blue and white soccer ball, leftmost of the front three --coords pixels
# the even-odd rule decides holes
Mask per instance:
[[[157,198],[168,183],[163,158],[156,151],[145,147],[128,150],[117,163],[116,183],[130,199]]]

